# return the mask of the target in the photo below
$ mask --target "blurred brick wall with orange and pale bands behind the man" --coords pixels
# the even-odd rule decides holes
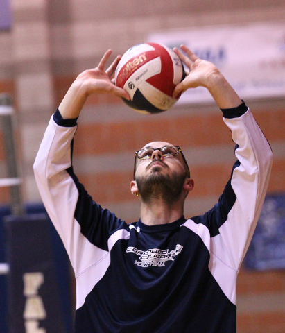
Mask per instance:
[[[0,92],[14,99],[20,135],[24,199],[39,201],[32,165],[44,129],[74,78],[95,67],[103,52],[114,54],[144,42],[149,33],[171,28],[250,22],[283,22],[284,1],[13,0],[13,27],[0,33]],[[274,152],[270,192],[285,191],[284,100],[248,102]],[[214,105],[176,106],[152,117],[122,101],[91,97],[78,121],[74,164],[79,179],[101,205],[126,221],[139,216],[130,194],[134,152],[147,142],[178,144],[196,187],[185,215],[211,208],[234,162],[230,131]],[[0,172],[5,175],[0,135]],[[206,176],[205,176],[206,175]],[[0,203],[8,203],[1,189]],[[132,207],[132,210],[130,210]],[[285,332],[285,275],[241,271],[238,279],[239,333]]]

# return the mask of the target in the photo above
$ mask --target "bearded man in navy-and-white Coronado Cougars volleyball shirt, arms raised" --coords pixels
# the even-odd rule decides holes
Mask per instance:
[[[87,96],[129,99],[110,80],[120,57],[105,71],[110,50],[76,78],[44,135],[35,177],[76,275],[76,333],[236,332],[236,275],[264,201],[272,154],[220,71],[181,49],[186,54],[175,52],[190,71],[173,96],[207,87],[236,143],[230,180],[205,215],[183,216],[193,180],[172,143],[151,142],[136,152],[131,192],[141,199],[141,216],[135,223],[103,210],[78,182],[71,142]]]

